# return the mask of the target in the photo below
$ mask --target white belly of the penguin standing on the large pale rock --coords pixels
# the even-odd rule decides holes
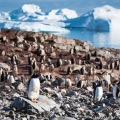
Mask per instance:
[[[30,99],[37,99],[39,97],[40,90],[40,81],[38,78],[32,78],[30,80],[29,88],[28,88],[28,97]]]

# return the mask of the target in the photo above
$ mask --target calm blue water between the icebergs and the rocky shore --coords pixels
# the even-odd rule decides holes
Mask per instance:
[[[67,38],[90,41],[95,47],[120,49],[120,31],[95,31],[86,28],[69,28],[68,34],[57,34]]]

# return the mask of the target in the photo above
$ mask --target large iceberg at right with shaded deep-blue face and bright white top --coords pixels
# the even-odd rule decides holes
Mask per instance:
[[[74,19],[67,20],[66,27],[85,27],[95,30],[120,30],[120,9],[111,6],[94,8]]]

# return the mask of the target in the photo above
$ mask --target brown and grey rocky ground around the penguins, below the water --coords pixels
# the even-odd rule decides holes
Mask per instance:
[[[103,80],[104,71],[110,74],[111,84],[119,81],[119,49],[95,48],[89,42],[67,39],[52,34],[33,33],[16,30],[0,32],[0,67],[8,74],[15,72],[11,58],[17,55],[19,61],[15,82],[8,79],[0,83],[0,119],[3,120],[119,120],[120,98],[114,99],[112,92],[103,86],[104,94],[100,102],[93,100],[91,82]],[[38,103],[27,98],[29,73],[28,55],[35,58],[37,66],[34,72],[52,75],[41,83]],[[41,57],[45,56],[45,69],[40,71]],[[54,69],[49,71],[50,62]],[[57,66],[58,59],[62,64]],[[73,60],[71,60],[74,58]],[[69,62],[74,61],[74,63]],[[84,72],[83,67],[85,66]],[[70,67],[71,72],[67,73]],[[92,68],[92,71],[90,71]],[[94,68],[94,69],[93,69]],[[41,68],[40,68],[41,69]],[[22,79],[21,75],[24,75]],[[70,78],[72,86],[55,87],[55,76]],[[86,84],[78,88],[75,76]]]

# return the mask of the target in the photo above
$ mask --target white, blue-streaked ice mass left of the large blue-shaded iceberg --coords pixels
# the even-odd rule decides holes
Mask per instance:
[[[69,33],[63,20],[78,17],[67,8],[42,12],[39,6],[24,4],[17,10],[0,12],[0,28],[34,32]]]

